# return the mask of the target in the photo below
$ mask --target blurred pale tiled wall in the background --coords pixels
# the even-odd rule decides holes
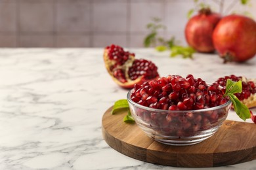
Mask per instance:
[[[256,0],[232,11],[251,12]],[[205,0],[215,10],[216,1]],[[186,13],[194,0],[0,0],[0,47],[104,47],[115,43],[142,47],[153,17],[167,26],[163,37],[186,44]]]

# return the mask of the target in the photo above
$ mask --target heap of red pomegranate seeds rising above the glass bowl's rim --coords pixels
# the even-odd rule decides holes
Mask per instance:
[[[169,75],[142,85],[135,84],[131,99],[146,107],[163,110],[198,110],[228,101],[219,84],[207,85],[201,78]]]

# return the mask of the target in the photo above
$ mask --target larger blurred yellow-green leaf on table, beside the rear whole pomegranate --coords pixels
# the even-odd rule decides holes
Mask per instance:
[[[173,46],[171,48],[171,57],[181,55],[182,58],[193,58],[192,54],[194,54],[194,52],[196,52],[196,50],[190,46]]]

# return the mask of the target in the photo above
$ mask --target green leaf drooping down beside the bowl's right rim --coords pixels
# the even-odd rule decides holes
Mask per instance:
[[[238,97],[236,97],[236,95],[232,93],[227,93],[226,95],[230,97],[236,114],[238,114],[238,116],[242,118],[242,120],[245,121],[247,118],[251,118],[249,109],[243,103],[241,103],[241,101],[238,99]]]

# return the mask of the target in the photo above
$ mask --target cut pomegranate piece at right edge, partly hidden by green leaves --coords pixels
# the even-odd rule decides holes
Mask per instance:
[[[235,93],[236,97],[244,103],[248,108],[256,107],[256,80],[249,79],[245,76],[224,76],[219,78],[216,83],[220,86],[223,86],[223,90],[225,90],[226,80],[230,79],[235,82],[241,80],[242,81],[242,93]]]

